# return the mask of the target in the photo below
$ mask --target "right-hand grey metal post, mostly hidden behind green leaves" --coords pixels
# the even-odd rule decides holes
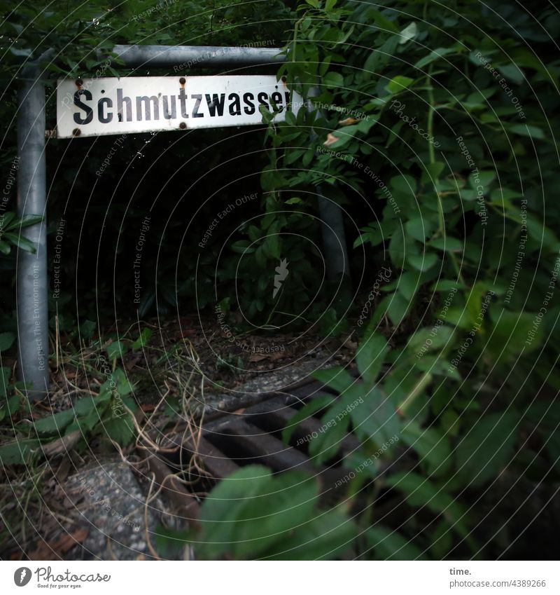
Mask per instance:
[[[313,87],[309,90],[309,97],[319,95],[319,90]],[[307,100],[307,109],[314,109],[311,100]],[[317,138],[311,132],[311,138]],[[329,200],[323,194],[320,185],[317,186],[318,210],[321,217],[321,235],[323,236],[323,250],[325,251],[325,265],[329,281],[338,282],[342,277],[350,278],[348,250],[346,249],[346,234],[342,209],[334,200]]]

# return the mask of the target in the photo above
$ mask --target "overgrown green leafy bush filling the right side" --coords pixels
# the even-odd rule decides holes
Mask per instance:
[[[319,183],[335,198],[358,193],[352,240],[370,286],[381,267],[396,272],[363,326],[365,384],[337,372],[344,398],[325,418],[345,395],[367,404],[311,452],[328,460],[347,429],[363,442],[353,463],[393,433],[415,452],[418,466],[403,472],[369,467],[370,497],[389,487],[409,506],[404,522],[374,528],[374,552],[410,540],[435,558],[510,555],[519,528],[496,510],[493,540],[482,523],[486,489],[503,489],[500,475],[551,490],[559,479],[559,64],[547,56],[560,19],[552,7],[531,14],[476,1],[299,8],[279,75],[316,111],[269,132],[274,161],[263,177],[295,196]],[[382,458],[401,454],[391,447]],[[351,482],[351,498],[364,481]],[[419,522],[428,523],[421,535]]]

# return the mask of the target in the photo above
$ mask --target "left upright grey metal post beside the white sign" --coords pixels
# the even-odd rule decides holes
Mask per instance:
[[[46,216],[45,87],[38,66],[23,70],[18,93],[18,215]],[[18,249],[16,313],[18,317],[19,376],[27,383],[30,400],[48,392],[48,308],[46,217],[22,228],[21,235],[35,249]]]

